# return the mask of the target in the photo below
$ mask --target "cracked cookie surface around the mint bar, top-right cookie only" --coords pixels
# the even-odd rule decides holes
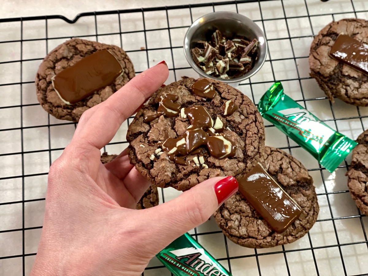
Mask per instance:
[[[309,53],[310,75],[325,91],[331,102],[333,96],[356,106],[368,106],[368,76],[329,56],[339,34],[368,42],[368,21],[347,18],[333,21],[315,36]]]

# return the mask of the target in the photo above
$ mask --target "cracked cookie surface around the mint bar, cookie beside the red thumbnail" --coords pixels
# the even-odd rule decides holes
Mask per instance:
[[[319,212],[313,179],[298,160],[280,149],[266,146],[260,163],[301,207],[300,217],[277,233],[237,192],[215,212],[216,222],[231,241],[245,247],[274,247],[296,241],[311,229]]]

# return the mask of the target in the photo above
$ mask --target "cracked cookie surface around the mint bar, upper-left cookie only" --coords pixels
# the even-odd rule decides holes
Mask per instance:
[[[94,92],[77,103],[67,105],[54,90],[51,78],[63,69],[74,65],[82,58],[100,50],[109,50],[116,57],[124,69],[123,74],[117,77],[111,85]],[[131,60],[119,47],[74,38],[57,46],[43,59],[36,74],[37,99],[43,109],[56,118],[78,122],[85,110],[109,98],[134,76],[135,73]]]

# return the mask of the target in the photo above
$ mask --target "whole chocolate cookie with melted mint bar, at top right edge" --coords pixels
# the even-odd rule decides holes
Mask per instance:
[[[368,106],[366,43],[368,21],[364,19],[333,21],[315,36],[309,53],[310,75],[330,101],[336,96],[352,105]],[[358,49],[365,53],[360,55]]]

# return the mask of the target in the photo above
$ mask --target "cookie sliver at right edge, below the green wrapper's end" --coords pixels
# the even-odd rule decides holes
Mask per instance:
[[[368,130],[359,135],[357,142],[350,168],[346,173],[347,185],[355,204],[368,216]]]

